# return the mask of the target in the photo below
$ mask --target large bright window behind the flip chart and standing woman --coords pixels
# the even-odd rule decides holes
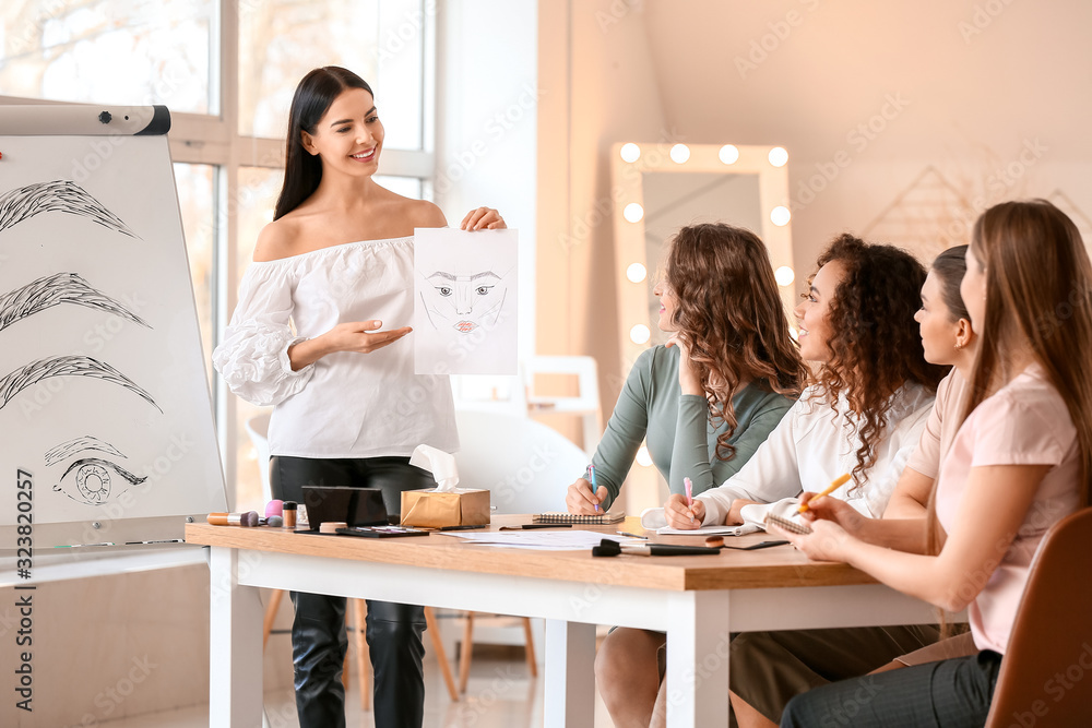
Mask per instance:
[[[381,184],[427,195],[435,0],[4,0],[0,104],[164,104],[207,358],[272,219],[298,80],[343,65],[375,88]],[[211,365],[210,377],[213,377]],[[233,509],[262,491],[246,421],[262,410],[213,379]]]

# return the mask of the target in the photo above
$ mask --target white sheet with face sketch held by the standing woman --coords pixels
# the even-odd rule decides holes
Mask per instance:
[[[414,230],[414,371],[515,374],[515,230]]]

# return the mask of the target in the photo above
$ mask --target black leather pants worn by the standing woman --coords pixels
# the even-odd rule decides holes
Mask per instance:
[[[387,512],[397,514],[403,490],[431,488],[436,484],[431,474],[410,465],[407,457],[274,456],[270,458],[270,485],[274,498],[300,503],[304,486],[379,488]],[[345,598],[289,594],[296,607],[292,659],[300,728],[344,728],[345,690],[341,673],[348,647]],[[376,726],[420,728],[425,704],[424,608],[372,599],[367,604],[365,635],[375,671]]]

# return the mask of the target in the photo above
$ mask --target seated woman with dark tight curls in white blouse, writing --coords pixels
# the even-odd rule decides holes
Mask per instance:
[[[818,264],[796,309],[812,384],[723,486],[691,508],[672,496],[665,504],[669,525],[760,523],[768,511],[788,516],[802,491],[822,490],[846,473],[853,477],[835,497],[864,515],[883,514],[947,373],[926,361],[914,321],[926,272],[905,251],[848,235],[836,238]],[[928,626],[887,628],[869,661],[882,665],[936,637]],[[664,708],[661,690],[657,718]]]

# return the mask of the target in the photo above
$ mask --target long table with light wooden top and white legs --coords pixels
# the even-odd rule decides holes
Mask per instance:
[[[527,522],[495,516],[491,528]],[[640,533],[632,521],[626,524],[634,527]],[[250,593],[258,587],[543,618],[545,724],[568,728],[592,726],[596,624],[667,633],[667,724],[674,727],[727,725],[732,632],[936,619],[928,605],[845,564],[809,562],[791,546],[713,557],[593,558],[586,550],[505,549],[439,534],[370,539],[205,524],[187,525],[186,540],[212,547],[211,726],[261,725],[262,613]]]

